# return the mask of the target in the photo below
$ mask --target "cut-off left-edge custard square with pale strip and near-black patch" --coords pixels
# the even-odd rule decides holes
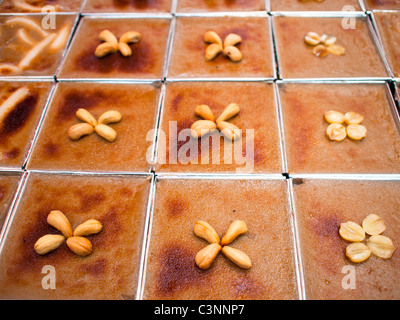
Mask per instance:
[[[0,166],[21,168],[52,82],[0,82]]]

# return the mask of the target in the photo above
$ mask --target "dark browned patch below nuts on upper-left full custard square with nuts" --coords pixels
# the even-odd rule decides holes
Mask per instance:
[[[119,52],[115,52],[103,58],[97,58],[94,54],[97,45],[90,46],[76,58],[76,69],[103,74],[113,71],[150,73],[153,70],[155,64],[153,48],[144,40],[130,45],[132,55],[129,57],[123,57]]]

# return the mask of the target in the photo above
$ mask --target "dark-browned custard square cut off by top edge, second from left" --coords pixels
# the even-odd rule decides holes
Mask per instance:
[[[83,13],[169,13],[172,0],[87,0]]]

